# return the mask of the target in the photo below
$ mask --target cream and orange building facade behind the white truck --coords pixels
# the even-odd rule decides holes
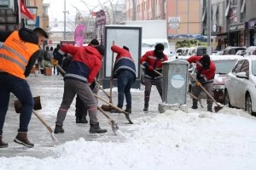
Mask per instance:
[[[135,9],[135,10],[134,10]],[[128,0],[127,20],[166,20],[168,37],[201,34],[201,0]],[[172,23],[177,19],[177,23]]]

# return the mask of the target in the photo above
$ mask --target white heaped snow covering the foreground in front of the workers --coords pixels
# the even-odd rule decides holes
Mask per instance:
[[[255,118],[241,110],[224,110],[166,111],[138,118],[129,127],[131,133],[119,133],[125,142],[79,139],[52,148],[55,156],[42,160],[1,157],[0,169],[256,169]]]

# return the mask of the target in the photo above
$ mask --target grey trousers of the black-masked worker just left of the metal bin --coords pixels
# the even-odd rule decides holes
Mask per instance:
[[[144,85],[145,85],[145,91],[144,91],[144,105],[148,107],[148,102],[150,99],[150,93],[152,84],[154,84],[158,90],[158,93],[160,94],[160,97],[162,99],[162,93],[163,93],[163,78],[159,79],[151,79],[148,77],[144,77]]]

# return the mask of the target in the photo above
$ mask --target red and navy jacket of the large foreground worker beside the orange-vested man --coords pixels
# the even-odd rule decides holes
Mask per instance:
[[[60,54],[71,54],[73,59],[68,66],[64,79],[75,79],[81,82],[93,82],[102,67],[102,55],[91,46],[75,47],[62,45]]]

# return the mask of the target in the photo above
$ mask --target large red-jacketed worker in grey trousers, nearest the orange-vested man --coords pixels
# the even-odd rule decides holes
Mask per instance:
[[[58,50],[58,55],[73,55],[73,60],[67,68],[64,77],[64,94],[61,107],[57,114],[54,133],[64,133],[63,122],[67,115],[67,110],[73,102],[73,98],[77,94],[83,101],[90,117],[89,133],[106,133],[106,129],[99,126],[96,116],[97,101],[90,89],[90,83],[94,82],[98,71],[102,67],[102,55],[104,48],[102,46],[85,46],[75,47],[73,45],[62,45]],[[53,65],[57,65],[57,59],[52,60]]]

